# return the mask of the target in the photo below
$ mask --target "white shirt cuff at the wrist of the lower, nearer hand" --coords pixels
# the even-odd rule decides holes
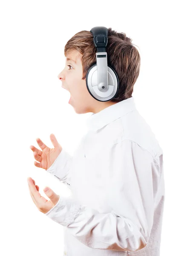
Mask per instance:
[[[78,215],[81,205],[75,201],[74,198],[64,197],[60,195],[60,198],[55,206],[50,209],[46,216],[53,221],[63,226],[68,226]]]

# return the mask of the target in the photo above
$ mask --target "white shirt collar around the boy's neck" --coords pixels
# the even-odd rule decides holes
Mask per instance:
[[[135,101],[132,96],[131,98],[124,99],[121,102],[110,105],[98,113],[92,113],[92,115],[86,119],[86,127],[89,130],[97,131],[110,122],[118,119],[121,116],[124,116],[125,114],[135,109]]]

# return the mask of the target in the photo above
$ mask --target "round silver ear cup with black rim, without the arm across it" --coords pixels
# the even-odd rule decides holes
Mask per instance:
[[[109,101],[113,99],[118,92],[119,82],[118,76],[109,65],[108,67],[108,90],[101,92],[98,90],[98,77],[97,77],[97,65],[93,65],[89,68],[86,74],[86,87],[89,93],[98,101]]]

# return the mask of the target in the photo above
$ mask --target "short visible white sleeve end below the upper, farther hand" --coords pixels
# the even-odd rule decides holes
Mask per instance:
[[[64,148],[62,148],[54,163],[46,170],[69,189],[71,189],[71,175],[69,170],[72,164],[72,158],[73,157]]]

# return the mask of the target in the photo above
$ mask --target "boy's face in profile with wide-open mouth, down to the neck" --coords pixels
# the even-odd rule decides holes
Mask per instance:
[[[71,96],[69,104],[73,106],[76,113],[97,113],[115,103],[109,101],[99,102],[90,95],[86,87],[86,80],[82,80],[83,67],[81,57],[82,54],[77,50],[70,52],[66,56],[65,67],[58,75],[58,79],[62,81],[62,87],[69,91]],[[71,58],[73,61],[67,60],[67,58]]]

